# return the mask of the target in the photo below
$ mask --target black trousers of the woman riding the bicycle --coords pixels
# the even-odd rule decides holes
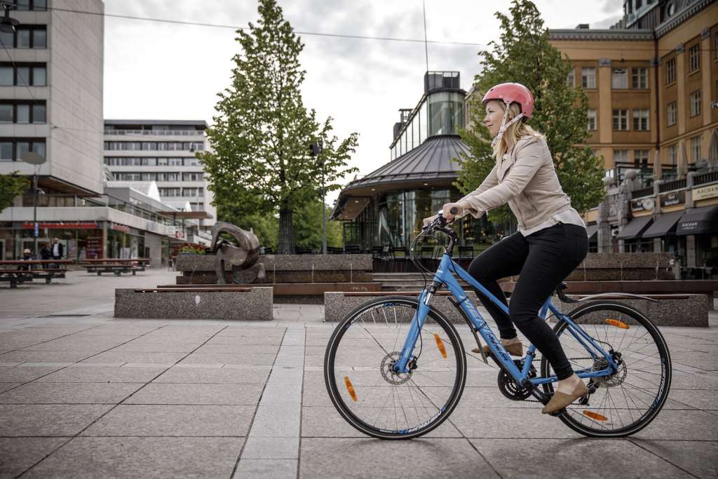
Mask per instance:
[[[481,302],[496,321],[503,339],[516,338],[516,325],[554,368],[559,379],[573,374],[559,338],[538,310],[561,281],[581,264],[588,252],[586,229],[559,223],[524,237],[514,233],[477,256],[469,273],[503,304],[508,304],[497,280],[520,275],[508,304],[507,317],[495,304]],[[512,324],[513,323],[513,324]]]

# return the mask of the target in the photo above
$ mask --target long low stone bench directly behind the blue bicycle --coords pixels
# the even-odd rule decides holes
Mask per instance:
[[[360,304],[377,297],[408,296],[418,298],[419,294],[421,294],[419,291],[327,292],[324,295],[324,320],[325,322],[340,321]],[[432,307],[442,312],[451,322],[465,322],[461,313],[449,301],[449,296],[451,293],[448,291],[437,292],[432,299]],[[467,291],[467,296],[474,304],[481,306],[473,291]],[[567,294],[567,296],[577,299],[587,295]],[[656,299],[658,302],[628,297],[613,300],[637,308],[658,326],[708,327],[708,306],[704,294],[646,294],[645,296]],[[559,311],[564,313],[579,305],[561,302],[557,297],[554,297],[552,302]]]

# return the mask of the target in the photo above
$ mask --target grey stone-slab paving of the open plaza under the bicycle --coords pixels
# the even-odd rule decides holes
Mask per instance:
[[[386,442],[330,403],[319,305],[276,305],[271,322],[112,317],[116,287],[175,275],[0,287],[0,477],[718,477],[717,312],[709,328],[661,328],[671,394],[628,439],[587,439],[505,399],[470,358],[449,420]]]

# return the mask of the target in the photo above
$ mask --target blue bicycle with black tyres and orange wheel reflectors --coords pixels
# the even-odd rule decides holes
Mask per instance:
[[[380,297],[362,304],[337,325],[327,345],[325,383],[332,403],[369,436],[411,439],[426,434],[449,417],[462,396],[467,355],[472,354],[465,352],[452,322],[432,307],[442,287],[470,327],[472,338],[466,338],[475,340],[486,363],[481,340],[488,345],[504,396],[546,404],[554,392],[557,378],[536,347],[530,345],[523,358],[512,359],[467,297],[454,275],[508,315],[499,299],[453,261],[457,236],[441,215],[416,236],[411,251],[419,238],[437,232],[449,241],[419,298]],[[561,288],[557,293],[577,307],[563,314],[549,297],[539,315],[555,319],[554,332],[574,371],[588,381],[589,393],[555,415],[590,437],[640,431],[661,411],[671,386],[671,357],[661,332],[639,310],[610,300],[635,295],[601,294],[586,302],[567,298]],[[534,363],[540,363],[538,371]]]

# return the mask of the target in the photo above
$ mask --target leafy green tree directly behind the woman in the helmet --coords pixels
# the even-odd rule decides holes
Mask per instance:
[[[475,77],[477,93],[484,93],[497,83],[516,82],[526,85],[534,99],[533,116],[528,124],[546,135],[554,157],[556,174],[571,204],[585,213],[603,200],[603,159],[595,157],[585,145],[588,138],[588,98],[581,88],[567,84],[570,62],[549,43],[549,30],[541,14],[529,0],[513,0],[509,16],[497,12],[501,22],[498,42],[480,52],[482,72]],[[465,193],[475,190],[495,164],[481,96],[469,102],[469,129],[460,131],[471,149],[471,157],[462,154],[462,171],[455,185]],[[501,221],[508,208],[489,215]]]

